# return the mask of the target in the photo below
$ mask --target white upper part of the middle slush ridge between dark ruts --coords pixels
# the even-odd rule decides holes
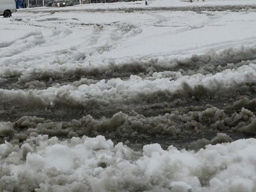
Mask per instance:
[[[154,74],[157,76],[157,74]],[[161,74],[160,74],[161,77]],[[173,97],[209,97],[247,91],[248,84],[256,82],[256,65],[243,65],[237,70],[225,70],[215,75],[196,74],[143,80],[131,75],[129,80],[101,80],[96,84],[55,86],[45,90],[4,90],[0,89],[0,106],[45,108],[52,106],[116,106],[150,103],[162,95],[165,101]],[[11,106],[10,106],[11,105]]]

